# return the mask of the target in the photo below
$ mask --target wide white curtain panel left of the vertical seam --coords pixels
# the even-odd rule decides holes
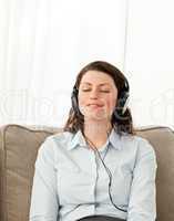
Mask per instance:
[[[1,0],[0,124],[62,126],[78,72],[124,66],[126,0]]]

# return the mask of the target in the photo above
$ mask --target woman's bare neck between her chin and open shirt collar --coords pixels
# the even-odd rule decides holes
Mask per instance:
[[[86,141],[90,141],[96,147],[100,148],[108,140],[108,136],[111,133],[112,126],[109,122],[85,122],[83,134],[86,138]]]

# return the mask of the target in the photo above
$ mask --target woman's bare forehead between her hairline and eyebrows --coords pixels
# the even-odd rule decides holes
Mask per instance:
[[[88,71],[82,76],[81,84],[114,85],[114,81],[104,72]]]

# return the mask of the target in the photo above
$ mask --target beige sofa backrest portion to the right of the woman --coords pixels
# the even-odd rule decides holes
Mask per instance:
[[[157,157],[157,221],[174,221],[174,131],[156,127],[137,133],[150,140]]]

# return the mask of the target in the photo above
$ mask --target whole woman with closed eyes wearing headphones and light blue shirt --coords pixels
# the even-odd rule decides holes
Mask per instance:
[[[64,131],[35,161],[30,221],[154,221],[156,156],[127,108],[129,82],[114,65],[84,66]]]

